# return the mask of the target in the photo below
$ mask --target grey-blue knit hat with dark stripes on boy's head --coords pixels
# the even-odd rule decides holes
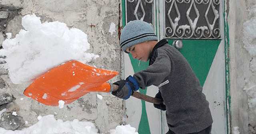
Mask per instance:
[[[153,27],[144,21],[134,20],[127,23],[120,36],[121,49],[126,49],[144,41],[157,40]]]

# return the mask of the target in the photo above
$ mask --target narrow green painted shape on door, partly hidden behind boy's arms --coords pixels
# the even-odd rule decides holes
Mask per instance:
[[[137,73],[138,71],[145,70],[148,67],[149,62],[140,62],[137,59],[133,59],[132,55],[129,54],[132,68],[134,69],[134,73]],[[140,93],[146,95],[147,89],[139,89]],[[150,134],[150,127],[148,124],[148,116],[146,112],[146,104],[145,101],[141,101],[142,103],[142,113],[140,117],[140,124],[138,127],[138,133],[139,134]]]

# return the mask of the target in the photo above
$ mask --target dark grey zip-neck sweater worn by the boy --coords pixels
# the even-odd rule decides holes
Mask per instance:
[[[155,85],[166,105],[166,120],[176,134],[200,132],[212,124],[209,102],[188,61],[161,40],[150,55],[146,70],[134,74],[140,88]]]

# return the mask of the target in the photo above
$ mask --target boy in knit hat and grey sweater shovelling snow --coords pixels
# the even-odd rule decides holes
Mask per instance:
[[[163,103],[154,104],[154,107],[166,110],[169,128],[166,134],[211,133],[209,103],[199,80],[177,49],[168,45],[166,39],[158,42],[152,26],[140,20],[131,21],[124,27],[120,46],[133,58],[150,63],[146,70],[113,83],[118,85],[118,90],[112,95],[128,99],[139,88],[155,85],[159,88],[156,98]]]

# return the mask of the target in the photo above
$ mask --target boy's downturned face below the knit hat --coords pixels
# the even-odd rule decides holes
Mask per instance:
[[[126,49],[127,52],[132,54],[134,59],[148,61],[148,57],[150,55],[151,47],[147,44],[148,41],[133,45]]]

